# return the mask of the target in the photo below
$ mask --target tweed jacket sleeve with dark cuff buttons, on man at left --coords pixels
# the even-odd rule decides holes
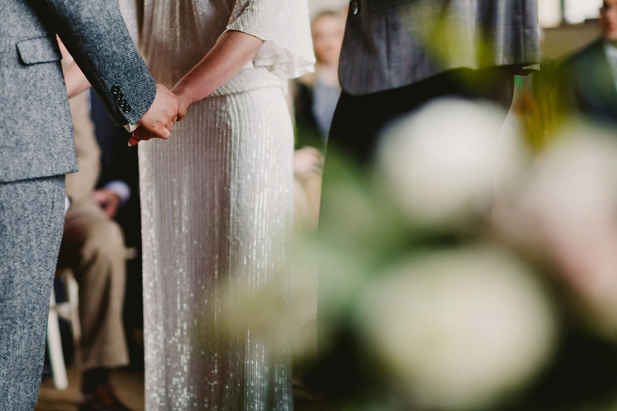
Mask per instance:
[[[137,123],[154,101],[156,83],[136,50],[114,0],[33,0],[62,39],[117,124]]]

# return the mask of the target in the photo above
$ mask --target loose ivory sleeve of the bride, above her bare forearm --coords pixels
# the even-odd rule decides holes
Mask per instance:
[[[315,70],[307,0],[236,0],[226,31],[262,39],[252,60],[283,78]]]

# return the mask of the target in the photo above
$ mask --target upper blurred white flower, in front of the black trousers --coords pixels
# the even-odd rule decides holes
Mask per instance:
[[[491,210],[495,173],[520,163],[518,140],[498,139],[504,120],[494,105],[444,99],[386,131],[378,170],[408,218],[432,226]]]

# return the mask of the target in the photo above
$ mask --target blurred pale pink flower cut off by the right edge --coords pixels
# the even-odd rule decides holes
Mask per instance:
[[[570,126],[537,159],[498,226],[552,258],[599,324],[617,332],[617,142]]]

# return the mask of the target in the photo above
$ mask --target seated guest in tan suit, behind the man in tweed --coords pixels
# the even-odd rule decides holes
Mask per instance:
[[[110,385],[110,370],[128,364],[122,322],[126,248],[112,219],[130,192],[122,182],[94,190],[101,150],[94,137],[85,93],[70,100],[80,171],[68,174],[70,207],[65,216],[59,269],[70,268],[79,284],[83,398],[80,411],[128,411]]]

